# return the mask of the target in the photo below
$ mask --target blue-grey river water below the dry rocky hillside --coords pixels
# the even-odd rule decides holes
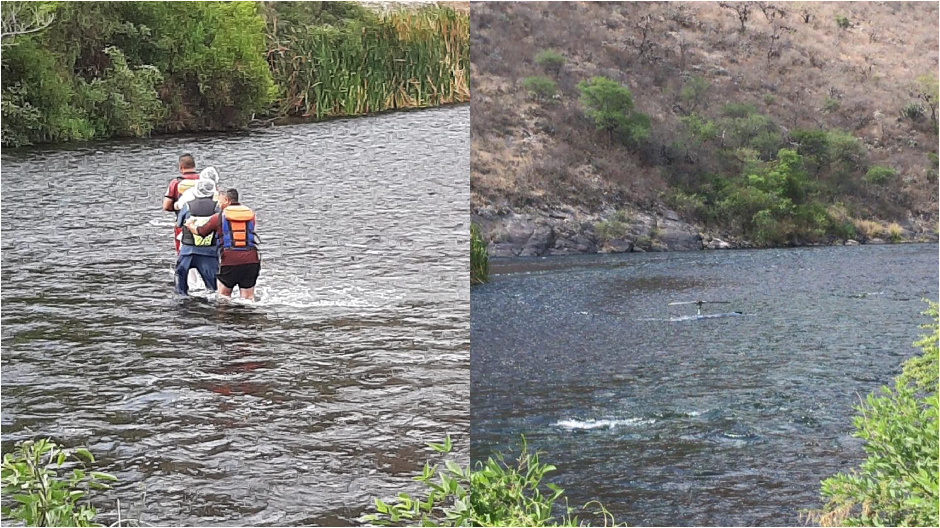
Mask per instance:
[[[473,458],[525,434],[630,526],[802,526],[862,459],[938,295],[936,244],[495,260],[472,295]],[[728,301],[689,318],[694,306]]]

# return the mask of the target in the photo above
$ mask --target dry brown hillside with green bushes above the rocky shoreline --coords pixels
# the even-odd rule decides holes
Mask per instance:
[[[756,245],[935,232],[936,6],[739,4],[475,7],[473,210],[674,210]]]

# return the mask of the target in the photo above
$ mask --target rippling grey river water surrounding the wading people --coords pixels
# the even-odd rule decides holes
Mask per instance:
[[[5,150],[4,451],[50,435],[171,526],[356,524],[469,457],[469,108]],[[180,152],[258,214],[258,303],[173,296]],[[146,493],[146,496],[145,496]],[[142,514],[138,509],[142,507]]]

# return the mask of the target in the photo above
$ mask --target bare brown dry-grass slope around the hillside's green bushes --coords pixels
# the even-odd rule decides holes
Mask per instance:
[[[689,104],[718,116],[749,102],[783,132],[850,132],[869,164],[895,168],[884,192],[845,196],[865,216],[934,222],[930,110],[913,121],[901,109],[918,76],[937,76],[938,34],[937,2],[473,2],[473,208],[655,207],[668,189],[662,151]],[[544,74],[543,49],[567,62],[555,98],[534,101],[522,82]],[[628,86],[650,116],[643,148],[609,148],[584,117],[575,85],[595,75]],[[682,101],[693,76],[710,87]]]

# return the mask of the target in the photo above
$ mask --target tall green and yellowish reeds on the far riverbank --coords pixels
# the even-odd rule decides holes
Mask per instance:
[[[359,116],[469,101],[469,16],[392,11],[339,25],[268,23],[280,115]]]

